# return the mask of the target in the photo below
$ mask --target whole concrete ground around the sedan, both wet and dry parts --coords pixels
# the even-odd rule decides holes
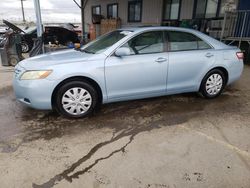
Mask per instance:
[[[68,120],[15,101],[0,67],[0,187],[249,188],[250,67],[217,99],[104,105]]]

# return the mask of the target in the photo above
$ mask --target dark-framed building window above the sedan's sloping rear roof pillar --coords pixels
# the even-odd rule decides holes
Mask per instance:
[[[214,18],[217,16],[218,0],[196,0],[195,18]]]

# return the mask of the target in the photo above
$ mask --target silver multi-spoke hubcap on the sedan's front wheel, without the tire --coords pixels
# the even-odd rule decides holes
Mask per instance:
[[[69,89],[63,94],[63,109],[71,115],[81,115],[87,112],[92,104],[90,93],[79,87]]]

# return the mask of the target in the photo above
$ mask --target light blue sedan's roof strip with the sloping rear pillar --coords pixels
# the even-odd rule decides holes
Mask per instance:
[[[189,28],[183,28],[183,27],[170,27],[170,26],[141,26],[141,27],[128,27],[128,28],[122,28],[119,30],[127,30],[132,31],[135,33],[145,32],[145,31],[152,31],[152,30],[167,30],[167,31],[180,31],[180,32],[187,32],[194,34],[195,36],[198,36],[202,40],[209,43],[211,46],[213,46],[215,49],[225,49],[225,48],[231,48],[230,46],[200,32],[195,29],[189,29]]]

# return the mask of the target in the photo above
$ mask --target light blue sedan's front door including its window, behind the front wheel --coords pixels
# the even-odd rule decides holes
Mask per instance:
[[[122,47],[129,49],[130,55],[112,55],[105,61],[109,101],[166,93],[168,54],[163,31],[139,34]]]

